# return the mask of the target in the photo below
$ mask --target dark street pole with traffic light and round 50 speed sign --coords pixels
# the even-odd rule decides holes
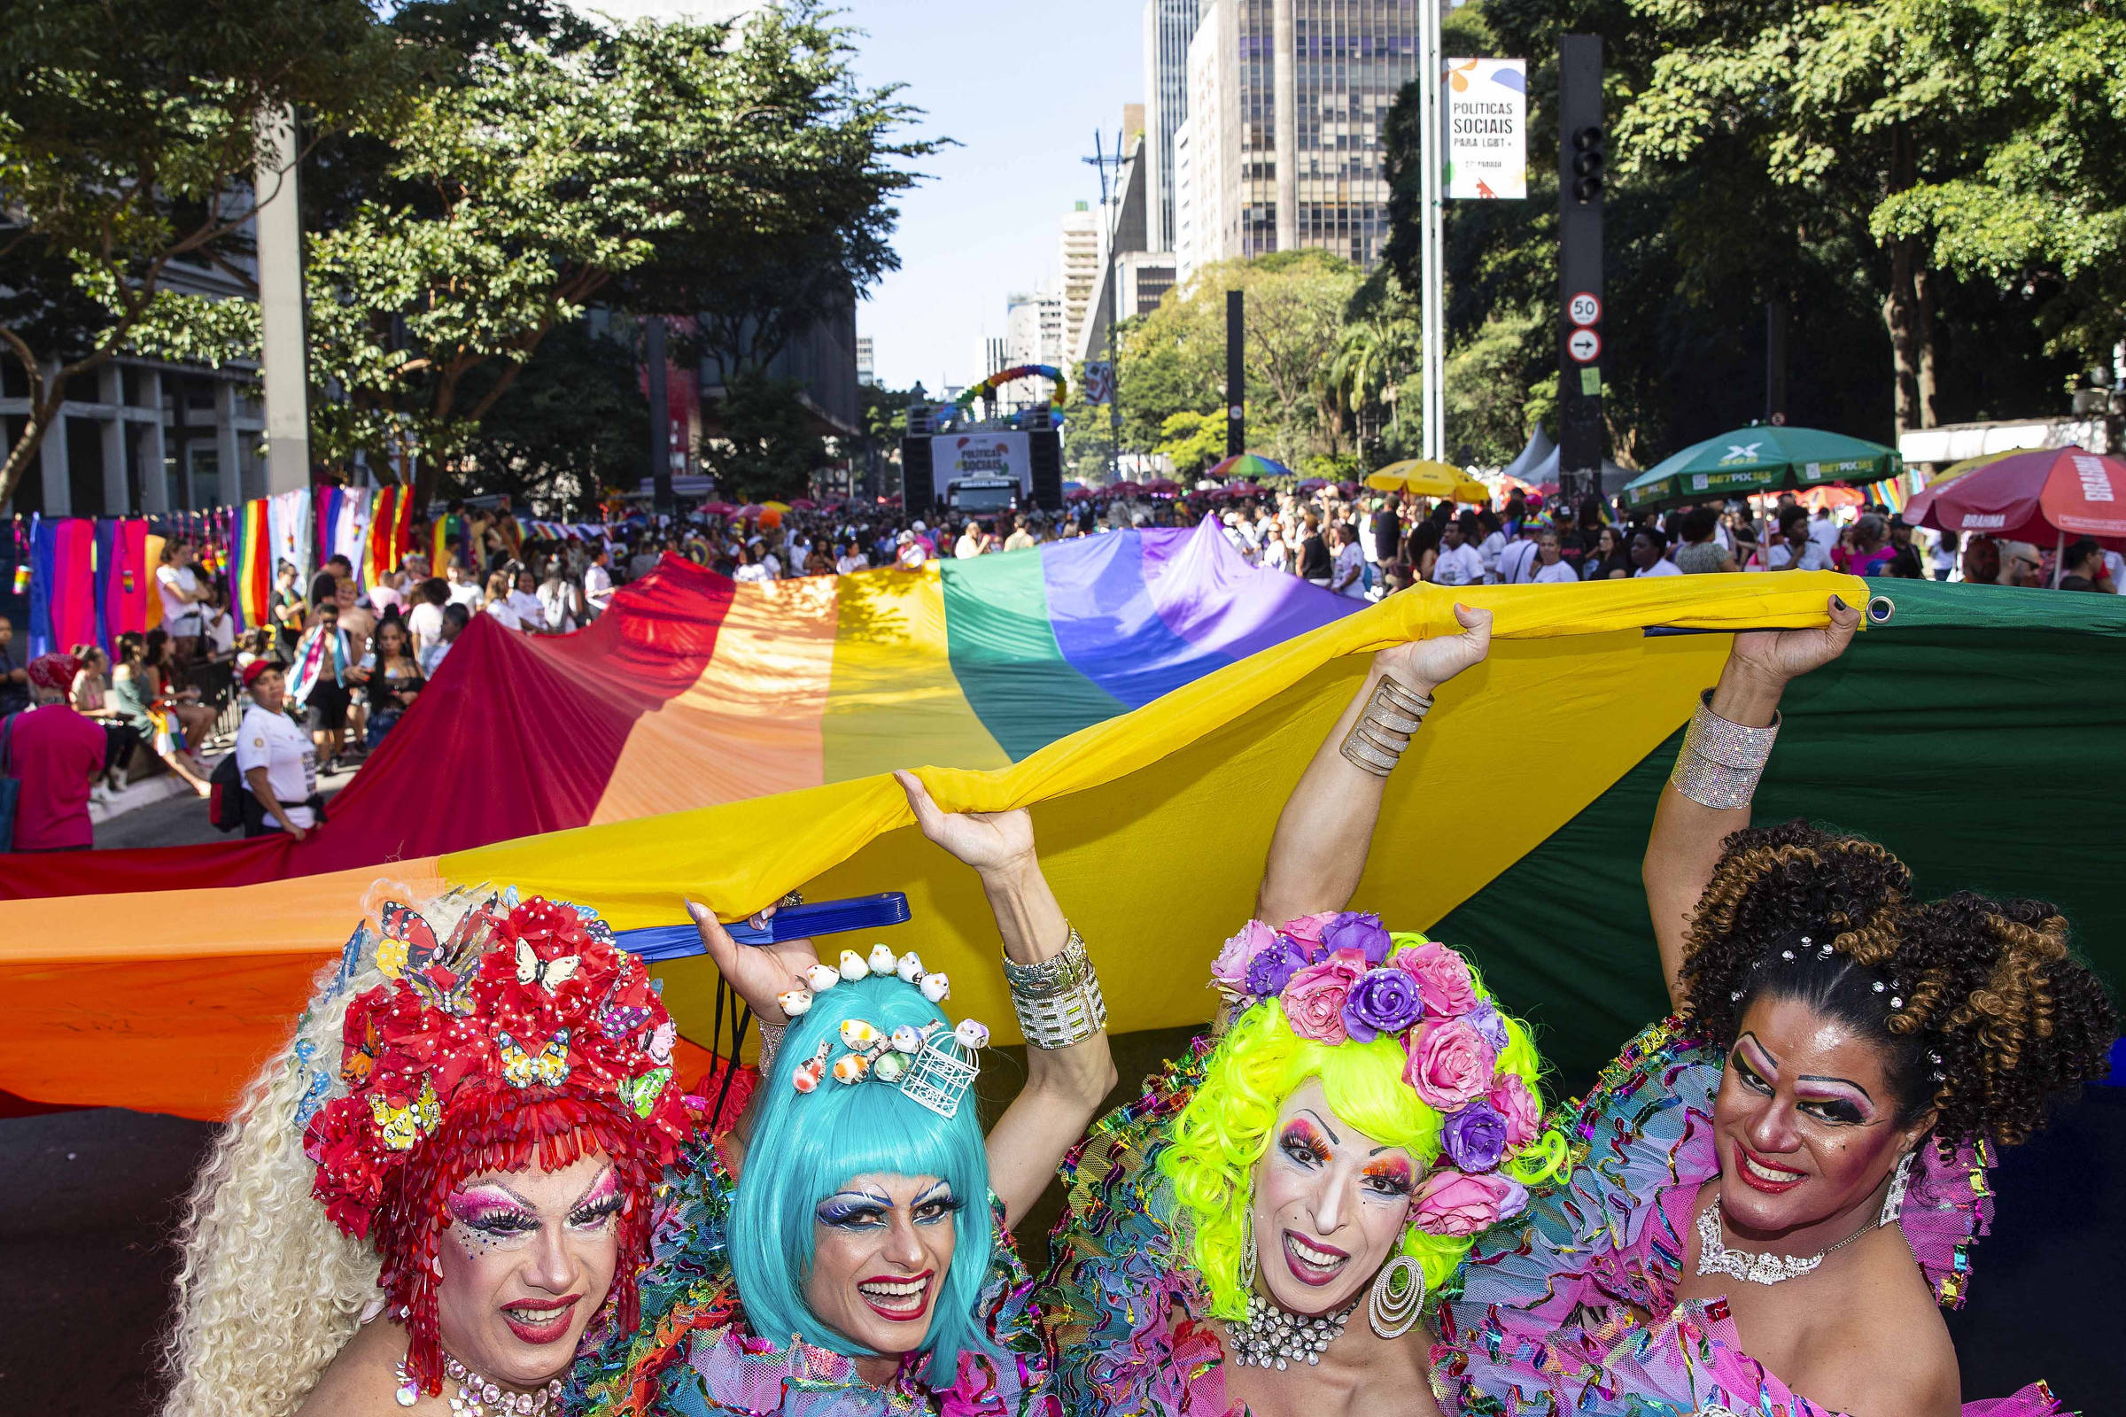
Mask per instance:
[[[1558,486],[1601,495],[1601,36],[1558,38]]]

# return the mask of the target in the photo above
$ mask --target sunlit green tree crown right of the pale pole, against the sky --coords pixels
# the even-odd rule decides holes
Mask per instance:
[[[878,193],[897,176],[880,142],[897,121],[853,87],[842,32],[810,8],[738,30],[478,36],[463,81],[423,96],[385,181],[313,240],[313,372],[338,395],[319,410],[323,450],[412,463],[432,497],[551,329],[591,302],[672,312],[674,253],[729,249],[708,280],[727,285],[778,240],[819,257],[840,232],[848,263],[821,278],[848,300],[889,259]],[[759,306],[748,319],[761,334]]]

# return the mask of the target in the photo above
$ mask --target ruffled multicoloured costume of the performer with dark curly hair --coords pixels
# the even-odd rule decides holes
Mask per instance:
[[[1478,1241],[1439,1313],[1433,1385],[1450,1413],[1520,1417],[1833,1417],[1741,1349],[1720,1300],[1675,1302],[1699,1185],[1718,1175],[1724,1054],[1675,1020],[1633,1039],[1571,1124],[1571,1179]],[[1986,1147],[1922,1147],[1899,1228],[1939,1302],[1958,1307],[1992,1224]],[[1643,1324],[1635,1307],[1660,1315]],[[1586,1311],[1607,1313],[1584,1321]],[[2043,1383],[1964,1417],[2062,1413]]]

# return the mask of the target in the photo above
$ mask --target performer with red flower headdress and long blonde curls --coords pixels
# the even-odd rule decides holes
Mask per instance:
[[[693,1117],[589,911],[378,884],[183,1232],[166,1417],[559,1413]]]

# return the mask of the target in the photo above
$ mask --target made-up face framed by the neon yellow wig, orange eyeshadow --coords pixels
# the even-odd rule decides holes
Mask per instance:
[[[1410,1222],[1418,1164],[1339,1120],[1310,1077],[1254,1166],[1256,1275],[1290,1313],[1335,1313],[1386,1264]]]

